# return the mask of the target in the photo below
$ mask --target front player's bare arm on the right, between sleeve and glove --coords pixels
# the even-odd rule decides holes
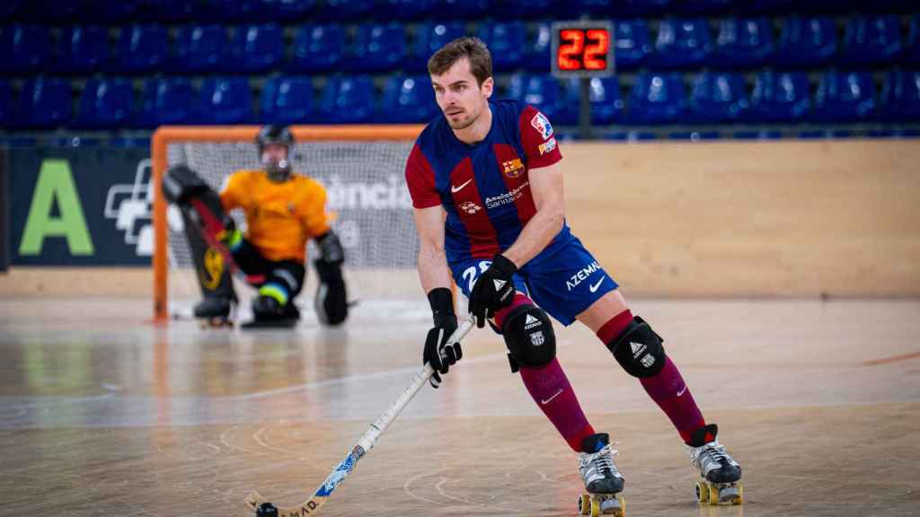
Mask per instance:
[[[562,171],[558,163],[530,170],[530,190],[534,194],[536,213],[524,224],[512,247],[501,254],[522,268],[544,250],[562,229],[565,220],[565,196]]]

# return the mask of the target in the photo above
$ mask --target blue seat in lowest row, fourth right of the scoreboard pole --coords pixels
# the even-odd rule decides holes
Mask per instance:
[[[804,121],[811,110],[808,76],[765,70],[757,75],[751,96],[751,121]]]

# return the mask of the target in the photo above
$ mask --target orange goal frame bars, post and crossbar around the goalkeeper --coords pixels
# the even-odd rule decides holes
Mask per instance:
[[[160,185],[167,168],[167,146],[176,142],[228,143],[252,142],[255,144],[260,126],[162,126],[150,142],[153,167],[151,188],[154,189],[154,321],[162,323],[168,318],[167,292],[167,203]],[[339,125],[291,126],[296,142],[309,141],[414,141],[424,126],[421,125]],[[227,174],[233,171],[227,171]]]

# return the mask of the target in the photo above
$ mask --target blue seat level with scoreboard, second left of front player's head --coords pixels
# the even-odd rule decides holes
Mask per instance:
[[[406,58],[406,31],[398,23],[358,26],[354,44],[346,52],[349,70],[385,72],[400,67]]]

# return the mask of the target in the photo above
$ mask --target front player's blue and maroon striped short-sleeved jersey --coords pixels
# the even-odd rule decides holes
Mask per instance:
[[[489,101],[492,127],[476,144],[457,140],[443,116],[431,121],[406,164],[415,208],[443,205],[451,264],[491,259],[514,244],[536,213],[530,175],[562,159],[546,116],[516,100]],[[543,253],[571,238],[568,224]]]

